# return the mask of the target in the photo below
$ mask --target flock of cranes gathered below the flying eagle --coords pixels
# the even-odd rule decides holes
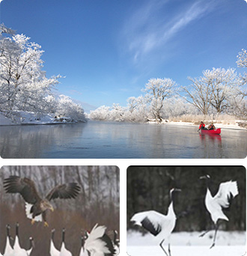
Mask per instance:
[[[34,249],[34,240],[32,237],[30,240],[30,248],[28,250],[23,249],[19,244],[19,224],[16,223],[16,237],[11,246],[12,237],[10,237],[10,225],[6,226],[7,239],[4,249],[4,255],[0,256],[29,256]],[[72,253],[66,248],[65,244],[65,229],[62,231],[62,244],[61,248],[57,249],[54,244],[55,229],[52,230],[52,237],[49,247],[50,256],[73,256]],[[116,256],[119,254],[120,241],[117,238],[118,232],[114,231],[113,240],[106,234],[106,227],[95,225],[90,233],[86,232],[81,236],[81,250],[79,256]]]

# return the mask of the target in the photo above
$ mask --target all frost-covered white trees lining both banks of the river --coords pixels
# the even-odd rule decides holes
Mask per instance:
[[[61,75],[46,78],[41,59],[43,50],[24,34],[15,34],[0,25],[0,112],[12,121],[21,122],[21,112],[70,117],[85,121],[82,106],[70,97],[56,95]],[[4,34],[4,35],[3,35]],[[247,52],[236,52],[237,66],[203,70],[202,76],[188,77],[189,85],[177,85],[170,78],[152,78],[139,97],[129,97],[127,106],[115,103],[100,106],[87,117],[100,121],[201,121],[247,120]],[[234,63],[233,63],[234,65]],[[189,74],[188,74],[189,76]],[[64,78],[65,79],[65,78]],[[176,78],[174,78],[176,79]]]

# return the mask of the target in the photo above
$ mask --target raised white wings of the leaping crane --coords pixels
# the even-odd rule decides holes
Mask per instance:
[[[226,208],[229,207],[231,198],[234,198],[238,193],[237,181],[221,183],[214,200],[216,200],[222,207]]]

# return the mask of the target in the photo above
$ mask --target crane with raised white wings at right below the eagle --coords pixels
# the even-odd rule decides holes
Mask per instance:
[[[84,238],[83,238],[84,239]],[[106,234],[106,227],[95,225],[85,240],[80,256],[114,256],[112,240]]]

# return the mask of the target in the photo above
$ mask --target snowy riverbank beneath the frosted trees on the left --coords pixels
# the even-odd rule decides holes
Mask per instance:
[[[77,121],[71,118],[53,118],[52,115],[43,115],[42,117],[37,117],[34,112],[18,112],[15,117],[15,122],[10,118],[4,117],[0,113],[0,126],[9,125],[40,125],[40,124],[76,124]]]

